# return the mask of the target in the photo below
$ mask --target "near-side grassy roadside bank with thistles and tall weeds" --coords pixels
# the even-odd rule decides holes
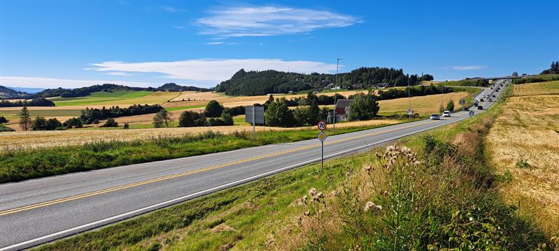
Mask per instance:
[[[483,137],[499,112],[406,137],[400,144],[418,152],[410,156],[416,165],[401,150],[337,158],[38,249],[535,249],[543,234],[502,204],[492,189],[502,177],[483,157]],[[388,167],[392,155],[397,162]],[[406,163],[413,169],[396,168]]]

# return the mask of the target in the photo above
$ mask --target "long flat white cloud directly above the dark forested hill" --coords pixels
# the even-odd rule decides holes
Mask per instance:
[[[93,63],[99,72],[161,73],[166,78],[221,82],[241,68],[245,70],[282,70],[295,73],[334,73],[335,63],[283,61],[282,59],[190,59],[172,62]]]

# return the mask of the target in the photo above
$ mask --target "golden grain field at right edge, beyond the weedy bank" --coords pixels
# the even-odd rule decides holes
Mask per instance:
[[[518,84],[487,137],[487,153],[510,204],[548,236],[559,234],[559,82]]]

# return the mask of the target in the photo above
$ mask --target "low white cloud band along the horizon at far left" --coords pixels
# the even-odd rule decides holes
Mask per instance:
[[[84,86],[92,86],[94,84],[122,84],[125,86],[148,87],[158,86],[161,83],[154,84],[148,82],[132,82],[132,81],[113,81],[113,80],[82,80],[82,79],[56,79],[48,77],[10,77],[0,76],[0,85],[17,86],[17,87],[41,87],[41,88],[78,88]]]

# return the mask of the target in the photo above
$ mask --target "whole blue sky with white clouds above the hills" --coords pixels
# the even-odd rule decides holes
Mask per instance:
[[[435,79],[559,61],[559,1],[0,1],[0,85],[215,86],[236,70]]]

